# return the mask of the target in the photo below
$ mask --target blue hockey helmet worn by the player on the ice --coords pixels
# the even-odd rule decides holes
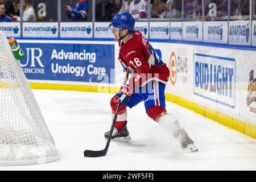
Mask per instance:
[[[119,32],[127,29],[129,33],[133,32],[135,20],[130,13],[120,13],[116,15],[110,24],[110,27],[119,28]]]

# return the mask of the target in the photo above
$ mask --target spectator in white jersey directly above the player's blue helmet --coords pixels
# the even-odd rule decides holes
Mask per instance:
[[[135,20],[138,20],[139,18],[146,18],[147,0],[133,0],[129,7],[129,13]]]

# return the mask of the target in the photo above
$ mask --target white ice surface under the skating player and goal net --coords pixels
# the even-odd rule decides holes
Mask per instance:
[[[184,153],[171,135],[147,117],[143,103],[127,109],[131,140],[110,142],[108,154],[84,158],[84,150],[102,150],[112,119],[112,94],[33,90],[55,139],[59,160],[0,167],[0,170],[256,170],[256,140],[191,110],[167,102],[199,152]]]

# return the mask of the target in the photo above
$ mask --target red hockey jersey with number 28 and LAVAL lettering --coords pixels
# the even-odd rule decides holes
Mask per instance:
[[[134,90],[152,80],[166,84],[170,71],[141,32],[135,30],[126,43],[122,40],[118,43],[118,60],[132,75],[128,84],[130,89]]]

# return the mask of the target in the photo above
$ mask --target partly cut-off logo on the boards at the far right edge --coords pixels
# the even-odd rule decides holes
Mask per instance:
[[[247,88],[247,106],[249,107],[251,104],[256,104],[256,78],[254,78],[254,69],[252,69],[249,73],[249,81],[248,81],[248,88]],[[250,106],[250,111],[256,113],[256,108]]]

